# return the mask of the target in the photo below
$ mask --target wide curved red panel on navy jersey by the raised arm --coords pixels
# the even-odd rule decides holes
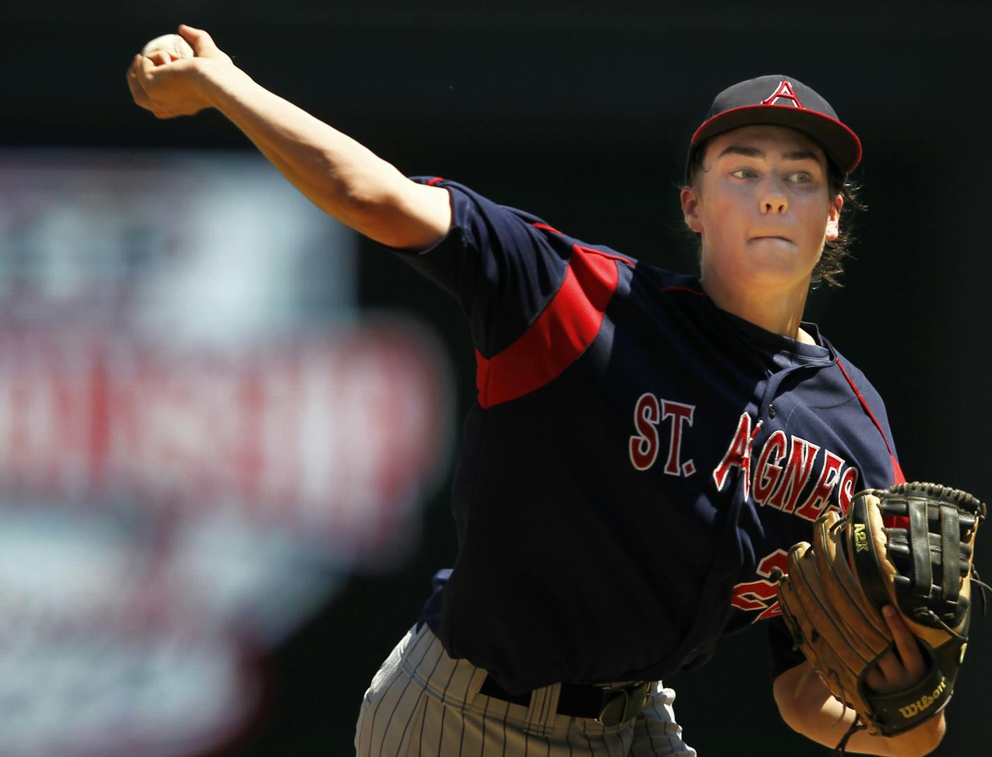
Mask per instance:
[[[476,350],[479,405],[515,400],[558,378],[596,338],[619,278],[612,256],[574,245],[564,281],[537,320],[491,358]]]

